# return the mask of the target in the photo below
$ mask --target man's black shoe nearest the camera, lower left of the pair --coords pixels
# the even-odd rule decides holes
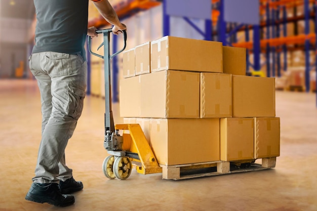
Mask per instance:
[[[55,206],[69,206],[75,202],[73,195],[63,195],[57,183],[33,183],[25,199],[37,203],[49,203]]]

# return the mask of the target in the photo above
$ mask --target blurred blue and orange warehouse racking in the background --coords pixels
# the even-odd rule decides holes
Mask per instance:
[[[166,12],[166,2],[149,0],[123,1],[114,6],[118,16],[123,19],[137,14],[139,11],[148,10],[152,7],[163,4],[163,35],[170,35],[170,16]],[[313,20],[316,26],[317,17],[315,11],[317,7],[316,0],[260,0],[259,11],[261,21],[258,25],[247,25],[243,23],[227,23],[224,20],[225,0],[211,0],[211,18],[205,20],[205,28],[195,25],[189,17],[183,17],[193,29],[201,34],[206,40],[221,41],[225,46],[247,48],[247,72],[249,74],[280,77],[283,72],[288,70],[287,53],[294,50],[305,52],[305,90],[310,91],[309,72],[312,67],[309,62],[309,52],[316,49],[315,31],[311,33],[309,21]],[[304,7],[302,15],[296,15],[298,7]],[[288,16],[290,10],[294,11],[293,16]],[[304,21],[304,33],[298,33],[298,22]],[[287,24],[294,23],[294,35],[287,34]],[[89,21],[89,25],[106,26],[109,25],[103,18],[95,18]],[[245,32],[245,40],[240,41],[237,33]],[[250,34],[252,32],[252,34]],[[252,35],[252,40],[250,40]],[[115,39],[114,39],[115,41]],[[113,51],[116,45],[113,46]],[[265,55],[265,61],[261,61],[261,54]],[[253,55],[253,61],[250,61],[250,55]],[[281,58],[283,55],[283,59]],[[263,58],[263,56],[262,56]],[[317,59],[316,59],[317,62]],[[118,67],[113,65],[113,80],[117,81]],[[261,68],[266,65],[266,72]],[[251,71],[251,68],[253,71]],[[116,87],[116,86],[114,86]],[[117,96],[117,90],[113,90],[114,96]],[[114,97],[115,98],[115,97]],[[114,99],[116,101],[117,98]]]

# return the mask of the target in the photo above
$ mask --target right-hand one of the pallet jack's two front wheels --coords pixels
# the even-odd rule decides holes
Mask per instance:
[[[117,157],[113,163],[113,173],[116,178],[125,180],[132,172],[132,162],[129,157],[121,156]]]

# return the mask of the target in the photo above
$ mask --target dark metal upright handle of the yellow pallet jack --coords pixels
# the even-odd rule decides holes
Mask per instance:
[[[102,29],[102,30],[96,30],[97,34],[103,34],[103,43],[98,47],[97,51],[103,46],[104,49],[104,56],[96,54],[91,51],[91,37],[88,36],[88,50],[92,55],[95,55],[97,57],[100,57],[104,61],[104,79],[105,79],[105,133],[111,134],[115,131],[114,128],[114,121],[113,121],[113,115],[111,110],[111,71],[110,71],[110,61],[113,57],[120,54],[126,49],[127,46],[127,31],[122,31],[123,39],[124,39],[124,47],[110,55],[110,33],[112,32],[112,29]]]

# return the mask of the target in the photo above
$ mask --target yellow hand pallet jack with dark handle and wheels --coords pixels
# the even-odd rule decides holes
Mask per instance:
[[[89,52],[104,60],[105,75],[105,139],[104,148],[108,157],[102,164],[104,175],[109,179],[127,179],[132,169],[135,168],[140,174],[162,173],[162,167],[152,152],[144,133],[139,124],[114,124],[111,110],[111,74],[110,61],[113,57],[126,49],[127,32],[123,31],[124,47],[120,51],[110,55],[110,33],[112,29],[97,30],[97,34],[103,34],[102,46],[104,56],[91,51],[91,37],[88,36]],[[124,131],[120,135],[120,131]],[[127,133],[129,131],[129,133]],[[133,161],[133,163],[132,163]]]

